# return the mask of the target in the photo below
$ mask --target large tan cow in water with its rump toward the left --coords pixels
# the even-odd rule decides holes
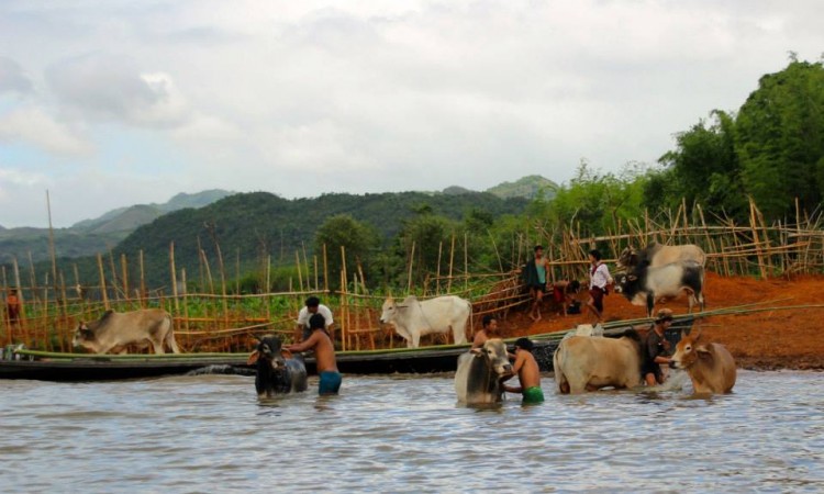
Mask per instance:
[[[570,336],[553,357],[555,382],[561,394],[641,384],[641,336],[634,329],[621,338]]]

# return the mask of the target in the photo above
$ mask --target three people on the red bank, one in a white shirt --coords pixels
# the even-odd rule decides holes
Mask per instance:
[[[522,271],[524,284],[532,295],[530,318],[536,322],[541,319],[544,295],[549,293],[552,294],[552,308],[557,315],[566,316],[570,310],[577,310],[577,295],[581,283],[578,280],[549,282],[547,277],[549,260],[544,257],[544,247],[536,245],[533,252],[534,257],[526,262]],[[603,321],[603,297],[609,294],[614,280],[598,249],[589,251],[589,299],[586,306],[594,316],[595,322],[600,323]]]

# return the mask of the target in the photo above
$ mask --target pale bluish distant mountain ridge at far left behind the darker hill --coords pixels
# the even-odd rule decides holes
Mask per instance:
[[[172,211],[202,207],[231,195],[225,190],[208,190],[193,194],[179,193],[163,204],[138,204],[109,211],[100,217],[85,220],[68,228],[55,228],[55,250],[59,257],[91,256],[114,248],[141,225],[152,223]],[[0,226],[0,263],[14,258],[27,263],[29,255],[37,262],[49,259],[48,228]]]

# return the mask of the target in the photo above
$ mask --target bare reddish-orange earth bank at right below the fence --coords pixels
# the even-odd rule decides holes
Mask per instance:
[[[751,314],[712,316],[700,319],[703,334],[730,349],[739,368],[824,370],[824,277],[803,276],[767,281],[754,278],[722,278],[708,273],[706,310],[761,303],[755,307],[821,305],[816,308],[770,310]],[[611,319],[634,319],[645,315],[642,306],[611,293],[604,299],[604,315]],[[676,314],[687,313],[686,299],[656,305]],[[586,311],[584,311],[586,312]],[[592,323],[584,313],[560,317],[542,311],[532,322],[523,311],[502,322],[502,336],[536,335]]]

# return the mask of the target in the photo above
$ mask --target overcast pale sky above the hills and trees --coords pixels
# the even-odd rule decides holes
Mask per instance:
[[[2,0],[0,225],[179,192],[485,190],[657,166],[821,0]]]

